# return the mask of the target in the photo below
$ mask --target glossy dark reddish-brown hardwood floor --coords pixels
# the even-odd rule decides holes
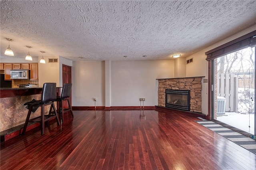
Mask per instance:
[[[143,117],[144,115],[144,117]],[[1,143],[1,170],[253,170],[256,155],[199,125],[162,110],[74,111]]]

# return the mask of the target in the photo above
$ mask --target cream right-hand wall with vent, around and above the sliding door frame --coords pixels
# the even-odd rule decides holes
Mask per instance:
[[[256,25],[187,57],[186,59],[193,57],[193,62],[186,65],[186,77],[205,76],[202,79],[209,79],[208,61],[206,61],[205,52],[244,36],[245,34],[248,34],[254,30],[256,30]],[[208,83],[202,83],[202,113],[205,115],[208,114]]]

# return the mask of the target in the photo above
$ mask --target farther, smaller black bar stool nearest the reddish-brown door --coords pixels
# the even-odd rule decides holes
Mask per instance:
[[[72,107],[70,105],[70,102],[68,100],[68,97],[71,95],[71,89],[72,89],[72,83],[65,83],[62,88],[61,96],[58,96],[55,101],[59,102],[59,109],[58,113],[61,117],[61,123],[63,123],[63,113],[66,113],[70,111],[72,117],[74,117]],[[68,101],[68,108],[63,108],[63,101]]]

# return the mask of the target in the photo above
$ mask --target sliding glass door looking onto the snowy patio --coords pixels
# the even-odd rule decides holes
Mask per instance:
[[[212,60],[212,119],[255,134],[255,47]]]

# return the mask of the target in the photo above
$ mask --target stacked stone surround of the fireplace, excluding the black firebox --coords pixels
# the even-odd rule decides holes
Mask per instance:
[[[165,89],[190,90],[190,111],[202,113],[202,77],[158,79],[158,106],[165,107]]]

